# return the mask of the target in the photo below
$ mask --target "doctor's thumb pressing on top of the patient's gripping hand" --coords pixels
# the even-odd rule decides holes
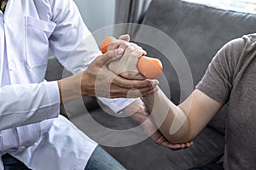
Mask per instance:
[[[114,50],[108,51],[106,54],[103,54],[100,57],[97,57],[99,64],[108,65],[109,62],[119,59],[124,54],[123,48],[117,48]]]

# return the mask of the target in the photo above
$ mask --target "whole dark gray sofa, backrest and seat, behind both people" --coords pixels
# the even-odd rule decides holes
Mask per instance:
[[[142,21],[143,25],[153,26],[165,32],[177,43],[189,62],[194,85],[201,80],[207,65],[214,54],[218,52],[218,49],[231,39],[256,31],[255,23],[256,15],[254,14],[227,11],[178,0],[153,0]],[[142,27],[138,27],[133,36],[136,37],[140,32],[143,32]],[[165,45],[164,42],[162,43]],[[148,56],[156,56],[162,61],[164,75],[172,94],[171,99],[178,104],[180,101],[180,84],[172,64],[157,49],[150,48],[143,43],[141,45],[148,51]],[[55,80],[61,75],[61,65],[55,59],[49,59],[46,79]],[[188,89],[187,93],[190,90]],[[127,129],[137,126],[137,122],[129,117],[119,118],[107,114],[99,106],[96,98],[84,98],[84,105],[90,114],[84,114],[73,119],[80,127],[84,126],[83,118],[85,120],[88,116],[92,116],[102,126],[112,129]],[[220,159],[224,155],[226,115],[227,109],[224,106],[218,115],[214,116],[212,122],[195,138],[194,145],[188,149],[169,150],[154,144],[151,139],[145,139],[139,144],[125,147],[104,145],[102,147],[108,150],[127,169],[134,170],[188,169],[189,167],[221,161]],[[89,129],[89,135],[96,130]],[[108,135],[111,136],[111,134],[105,134],[105,137]],[[95,139],[96,137],[92,135],[91,138]]]

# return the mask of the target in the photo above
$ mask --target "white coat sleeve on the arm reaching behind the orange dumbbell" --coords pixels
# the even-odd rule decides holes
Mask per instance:
[[[52,21],[56,27],[49,41],[50,48],[67,71],[73,74],[84,71],[102,53],[95,38],[85,26],[76,4],[72,0],[54,2]],[[98,99],[114,112],[121,111],[135,100]]]

